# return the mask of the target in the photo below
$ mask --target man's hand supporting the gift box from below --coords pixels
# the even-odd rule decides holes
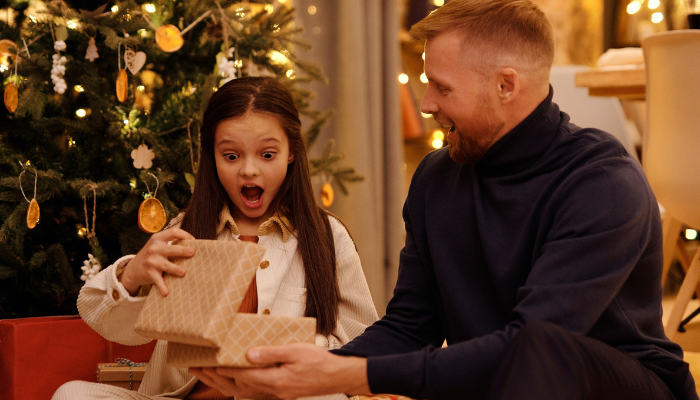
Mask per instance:
[[[332,393],[370,393],[367,360],[341,357],[318,346],[297,343],[255,347],[248,361],[269,368],[190,368],[190,373],[227,396],[289,399]]]

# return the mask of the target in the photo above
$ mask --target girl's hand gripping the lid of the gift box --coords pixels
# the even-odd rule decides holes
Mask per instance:
[[[168,244],[175,239],[194,239],[194,236],[179,228],[158,232],[151,236],[136,257],[129,261],[120,281],[130,295],[135,296],[142,285],[153,284],[163,296],[167,296],[168,288],[163,281],[163,273],[167,272],[175,276],[185,275],[185,269],[170,261],[169,258],[192,257],[194,248]]]

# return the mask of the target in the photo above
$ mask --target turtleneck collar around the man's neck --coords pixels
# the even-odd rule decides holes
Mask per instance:
[[[520,124],[494,143],[476,163],[479,175],[486,177],[518,173],[536,162],[554,140],[561,116],[559,106],[552,103],[554,91]]]

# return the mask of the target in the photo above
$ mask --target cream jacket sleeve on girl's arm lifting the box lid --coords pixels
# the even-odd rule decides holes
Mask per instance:
[[[92,329],[107,340],[140,345],[150,342],[134,332],[145,297],[132,297],[117,280],[116,270],[134,256],[124,256],[90,279],[78,295],[78,312]]]

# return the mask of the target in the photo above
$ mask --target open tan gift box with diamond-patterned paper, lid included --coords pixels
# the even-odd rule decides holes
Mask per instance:
[[[183,277],[166,274],[170,294],[151,290],[136,322],[138,334],[167,340],[173,367],[252,367],[254,346],[314,343],[316,319],[239,314],[265,248],[250,242],[183,240],[195,255],[175,259]]]

